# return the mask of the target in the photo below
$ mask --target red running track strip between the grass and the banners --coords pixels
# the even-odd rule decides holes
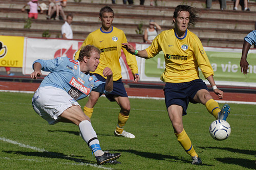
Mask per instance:
[[[0,81],[0,90],[35,91],[40,83]],[[162,89],[152,88],[126,88],[129,96],[144,96],[150,98],[164,98]],[[224,98],[219,99],[214,92],[210,92],[215,100],[256,102],[256,94],[224,92]]]

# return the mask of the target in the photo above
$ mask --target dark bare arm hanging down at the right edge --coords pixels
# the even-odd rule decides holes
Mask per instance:
[[[250,47],[251,47],[251,44],[244,40],[242,57],[240,60],[241,72],[243,72],[244,75],[247,75],[247,70],[249,69],[249,67],[248,67],[249,63],[246,61],[246,59],[247,59],[247,54],[248,54]]]

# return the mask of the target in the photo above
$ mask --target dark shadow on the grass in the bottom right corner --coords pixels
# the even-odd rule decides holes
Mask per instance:
[[[255,161],[249,160],[249,159],[241,159],[241,158],[215,158],[216,160],[222,162],[222,163],[228,163],[228,164],[234,164],[239,165],[244,168],[248,169],[255,169]]]

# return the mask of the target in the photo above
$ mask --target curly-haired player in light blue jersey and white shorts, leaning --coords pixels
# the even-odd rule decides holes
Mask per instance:
[[[41,82],[33,98],[33,109],[50,125],[58,122],[73,123],[79,127],[81,137],[95,155],[98,164],[120,163],[115,159],[120,153],[103,152],[92,127],[90,118],[85,115],[77,100],[86,98],[90,92],[109,93],[113,90],[112,70],[106,67],[105,82],[99,81],[90,71],[99,64],[100,51],[93,45],[81,48],[78,60],[58,57],[52,60],[36,60],[33,63],[32,79],[41,76],[41,70],[50,74]],[[114,160],[114,161],[113,161]]]

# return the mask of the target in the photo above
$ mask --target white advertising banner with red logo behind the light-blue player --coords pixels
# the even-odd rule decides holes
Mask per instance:
[[[74,59],[75,53],[82,43],[83,41],[77,40],[25,37],[23,74],[29,75],[33,72],[32,64],[37,59],[49,60],[57,57]],[[127,65],[123,52],[120,57],[120,65],[123,79],[132,80],[132,71]],[[46,76],[49,72],[42,71],[42,74]]]

